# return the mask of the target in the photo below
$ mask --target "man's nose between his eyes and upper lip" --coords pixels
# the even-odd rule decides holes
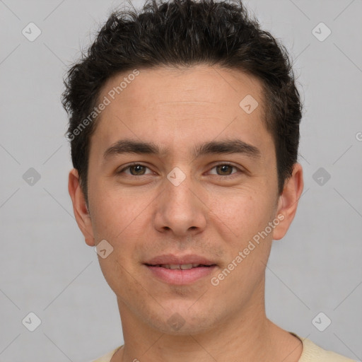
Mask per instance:
[[[156,230],[178,238],[201,233],[206,228],[209,210],[204,189],[192,177],[182,173],[184,175],[180,175],[180,170],[175,174],[171,172],[165,178],[154,216]]]

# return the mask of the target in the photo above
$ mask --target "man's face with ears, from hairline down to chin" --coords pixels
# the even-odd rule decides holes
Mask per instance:
[[[262,308],[271,240],[286,233],[303,182],[297,168],[299,184],[293,175],[277,193],[261,83],[209,66],[139,69],[110,93],[128,75],[99,97],[110,104],[91,136],[89,216],[69,178],[86,243],[106,240],[98,259],[121,316],[185,334]]]

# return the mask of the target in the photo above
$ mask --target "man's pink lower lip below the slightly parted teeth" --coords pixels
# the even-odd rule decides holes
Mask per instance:
[[[156,278],[161,281],[168,284],[186,285],[194,283],[206,276],[210,276],[210,274],[215,270],[216,265],[212,265],[211,267],[196,267],[186,270],[152,267],[150,265],[146,265],[146,267],[149,271],[151,271],[153,276],[156,276]]]

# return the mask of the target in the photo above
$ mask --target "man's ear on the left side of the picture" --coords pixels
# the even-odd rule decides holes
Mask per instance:
[[[78,228],[81,229],[84,238],[86,238],[86,244],[95,246],[91,215],[88,212],[86,199],[84,198],[84,194],[79,184],[78,171],[75,168],[69,173],[68,191],[71,202],[73,203],[73,211],[74,216],[76,217],[76,223],[78,223]]]

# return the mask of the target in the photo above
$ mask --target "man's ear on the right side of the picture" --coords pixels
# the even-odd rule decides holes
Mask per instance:
[[[278,199],[276,217],[279,216],[281,222],[274,228],[273,240],[280,240],[286,235],[296,215],[298,201],[303,192],[303,187],[303,168],[300,163],[295,163],[293,165],[293,173],[284,183],[283,192]],[[283,216],[284,218],[282,218]]]

